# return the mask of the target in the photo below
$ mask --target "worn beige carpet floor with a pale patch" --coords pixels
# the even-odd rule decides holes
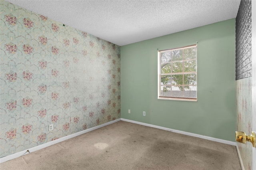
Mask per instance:
[[[119,121],[0,164],[1,170],[241,170],[235,146]]]

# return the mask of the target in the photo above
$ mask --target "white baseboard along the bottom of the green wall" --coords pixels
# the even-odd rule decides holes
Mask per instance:
[[[215,142],[220,142],[220,143],[230,144],[230,145],[236,146],[236,142],[232,142],[232,141],[229,141],[229,140],[223,140],[223,139],[213,138],[213,137],[209,137],[209,136],[204,136],[204,135],[201,135],[201,134],[184,132],[184,131],[181,131],[181,130],[175,130],[175,129],[166,128],[166,127],[160,127],[160,126],[151,125],[151,124],[148,124],[148,123],[132,121],[132,120],[129,120],[129,119],[121,118],[121,121],[126,121],[126,122],[130,122],[130,123],[136,123],[136,124],[144,125],[144,126],[147,126],[147,127],[159,128],[159,129],[167,130],[167,131],[174,132],[174,133],[185,134],[185,135],[188,135],[188,136],[194,136],[194,137],[197,137],[197,138],[212,140],[212,141],[215,141]]]

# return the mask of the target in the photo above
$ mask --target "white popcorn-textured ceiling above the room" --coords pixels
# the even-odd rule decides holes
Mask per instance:
[[[6,0],[117,45],[236,18],[240,0]]]

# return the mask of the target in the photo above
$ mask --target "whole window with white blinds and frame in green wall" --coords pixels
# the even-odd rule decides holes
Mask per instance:
[[[197,101],[197,45],[158,51],[158,99]]]

